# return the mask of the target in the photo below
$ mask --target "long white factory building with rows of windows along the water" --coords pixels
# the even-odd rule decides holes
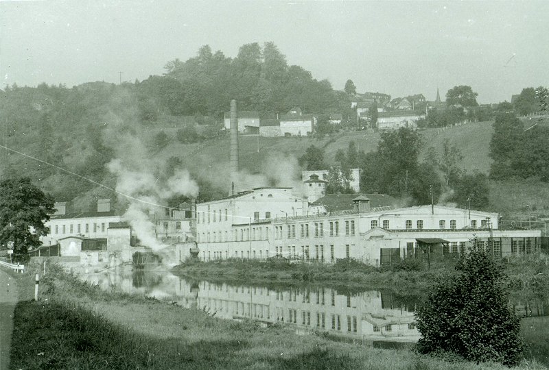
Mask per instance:
[[[371,207],[364,195],[335,212],[313,212],[290,188],[256,188],[197,205],[202,260],[282,256],[370,264],[465,252],[473,243],[495,256],[539,251],[541,231],[499,230],[498,214],[445,206]],[[426,256],[426,255],[425,255]]]

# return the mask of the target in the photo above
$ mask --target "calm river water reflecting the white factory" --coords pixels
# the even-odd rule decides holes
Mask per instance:
[[[187,280],[161,270],[118,269],[82,276],[105,290],[174,301],[223,319],[255,319],[266,325],[281,323],[298,334],[327,332],[334,340],[375,347],[401,347],[419,339],[414,310],[421,304],[421,296],[402,296],[390,289],[349,291],[327,286],[214,284]],[[519,316],[530,317],[524,319],[524,328],[532,330],[537,341],[539,332],[549,332],[549,302],[515,302],[513,308]],[[531,317],[535,317],[535,325],[530,325]],[[526,338],[528,341],[528,335]],[[540,347],[539,343],[536,345]],[[549,365],[545,354],[549,352],[547,341],[540,350],[542,353],[535,357]]]

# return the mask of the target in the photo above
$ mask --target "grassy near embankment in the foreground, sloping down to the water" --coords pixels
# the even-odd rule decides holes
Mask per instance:
[[[33,286],[34,273],[26,276],[19,283]],[[14,369],[506,369],[226,321],[170,302],[101,291],[57,267],[47,271],[40,291],[40,301],[16,307]],[[542,366],[524,361],[520,368]]]

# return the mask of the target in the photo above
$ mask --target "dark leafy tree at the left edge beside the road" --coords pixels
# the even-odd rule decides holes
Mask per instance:
[[[54,200],[34,186],[30,178],[0,182],[0,243],[14,243],[15,262],[29,259],[28,249],[39,247],[40,236],[49,233],[44,225],[54,213]]]

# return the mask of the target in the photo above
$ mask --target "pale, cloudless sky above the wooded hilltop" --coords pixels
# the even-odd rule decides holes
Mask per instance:
[[[288,64],[342,89],[434,100],[468,85],[479,103],[549,86],[549,1],[3,1],[0,82],[19,86],[161,75],[210,45],[234,58],[272,41]]]

